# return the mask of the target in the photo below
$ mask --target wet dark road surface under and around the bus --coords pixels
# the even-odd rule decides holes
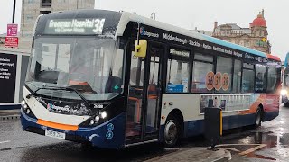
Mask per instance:
[[[231,161],[289,161],[289,108],[281,106],[279,116],[250,127],[227,130],[219,147],[232,153]],[[0,161],[144,161],[183,148],[204,147],[202,137],[183,139],[176,148],[146,144],[121,150],[89,149],[80,144],[25,132],[20,121],[0,122]]]

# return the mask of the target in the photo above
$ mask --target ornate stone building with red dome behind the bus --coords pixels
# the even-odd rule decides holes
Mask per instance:
[[[241,28],[237,23],[218,25],[218,22],[215,22],[212,36],[250,49],[271,53],[271,45],[267,40],[268,32],[264,10],[249,24],[248,28]]]

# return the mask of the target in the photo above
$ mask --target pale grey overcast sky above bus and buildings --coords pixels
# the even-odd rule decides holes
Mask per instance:
[[[17,0],[16,23],[20,23],[21,1]],[[289,51],[288,5],[288,0],[96,0],[95,8],[136,12],[146,17],[154,12],[158,21],[205,31],[212,31],[215,21],[249,27],[264,9],[272,54],[284,59]],[[5,32],[6,23],[11,23],[12,8],[13,0],[0,0],[0,33]]]

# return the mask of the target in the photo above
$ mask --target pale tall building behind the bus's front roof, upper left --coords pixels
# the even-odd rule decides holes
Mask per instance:
[[[40,14],[52,12],[93,9],[95,0],[22,0],[19,48],[31,47],[33,27]]]

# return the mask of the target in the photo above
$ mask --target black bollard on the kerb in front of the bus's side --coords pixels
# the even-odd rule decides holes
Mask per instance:
[[[215,107],[205,108],[204,119],[205,137],[210,141],[210,150],[218,150],[215,148],[219,144],[222,135],[222,110]]]

